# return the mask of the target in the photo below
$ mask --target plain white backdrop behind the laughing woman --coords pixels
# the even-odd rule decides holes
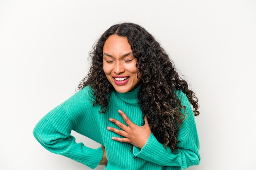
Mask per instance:
[[[89,169],[32,130],[75,93],[92,45],[119,22],[153,34],[199,98],[202,159],[189,170],[255,170],[254,0],[0,0],[0,169]]]

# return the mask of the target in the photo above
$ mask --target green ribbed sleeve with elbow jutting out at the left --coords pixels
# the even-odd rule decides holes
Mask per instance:
[[[102,148],[88,148],[83,143],[76,143],[74,136],[70,135],[76,123],[65,109],[65,104],[78,98],[79,94],[75,95],[45,115],[34,128],[33,134],[38,142],[50,152],[95,168],[102,159]],[[77,111],[77,108],[79,107],[74,110]]]

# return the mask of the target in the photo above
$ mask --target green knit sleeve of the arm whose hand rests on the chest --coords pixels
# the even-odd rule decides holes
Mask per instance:
[[[151,134],[143,148],[134,147],[133,153],[135,156],[161,166],[189,168],[200,163],[199,140],[193,110],[185,94],[178,92],[177,96],[180,98],[182,105],[186,107],[185,120],[177,136],[178,153],[173,154],[169,147],[164,148],[163,144],[159,143],[155,136]]]

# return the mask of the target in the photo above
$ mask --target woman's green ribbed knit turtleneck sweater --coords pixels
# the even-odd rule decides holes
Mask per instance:
[[[193,111],[185,94],[177,91],[182,105],[186,107],[186,119],[182,123],[178,139],[178,154],[170,148],[163,147],[151,133],[146,145],[139,149],[130,143],[121,143],[111,139],[118,136],[107,130],[117,125],[108,119],[114,118],[126,124],[117,110],[122,110],[139,126],[144,124],[142,112],[138,104],[137,89],[132,92],[112,92],[109,111],[99,114],[100,106],[93,107],[91,88],[84,87],[61,105],[46,114],[34,128],[34,136],[44,148],[50,152],[64,155],[95,168],[99,165],[103,150],[88,148],[86,143],[76,143],[72,130],[105,146],[108,165],[105,170],[182,170],[200,163],[199,141]],[[184,110],[182,110],[184,112]],[[137,158],[134,158],[137,157]]]

